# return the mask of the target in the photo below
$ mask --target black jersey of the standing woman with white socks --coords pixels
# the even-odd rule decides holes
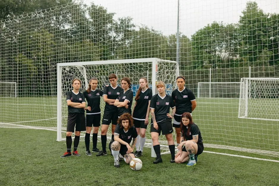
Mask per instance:
[[[139,93],[139,98],[136,100],[137,104],[133,112],[133,119],[142,121],[145,120],[147,107],[151,98],[152,90],[150,88],[146,89],[144,92],[141,91]]]

